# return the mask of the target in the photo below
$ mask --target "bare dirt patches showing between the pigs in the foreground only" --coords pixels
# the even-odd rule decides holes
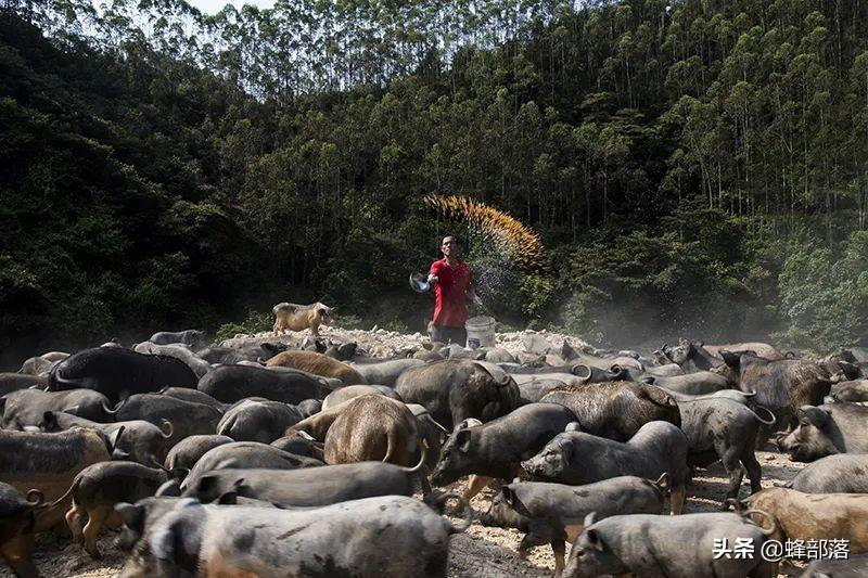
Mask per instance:
[[[763,487],[791,479],[805,464],[790,462],[787,455],[762,451],[757,459],[763,466]],[[454,490],[462,489],[463,481],[454,485]],[[700,470],[688,487],[685,513],[715,512],[726,492],[727,478],[719,464],[709,470]],[[745,476],[741,496],[749,492]],[[480,514],[488,509],[490,490],[475,497],[471,505]],[[37,541],[34,561],[44,577],[93,577],[112,576],[120,567],[123,556],[113,545],[116,535],[106,531],[100,540],[105,555],[102,561],[93,561],[66,538],[40,537]],[[549,547],[532,550],[526,561],[519,558],[516,548],[522,534],[518,530],[486,528],[474,524],[462,535],[452,537],[449,560],[449,576],[478,576],[486,578],[511,576],[549,577],[554,569],[554,557]],[[569,552],[569,550],[567,550]],[[12,576],[9,568],[0,566],[0,577]],[[786,576],[786,575],[781,575]]]

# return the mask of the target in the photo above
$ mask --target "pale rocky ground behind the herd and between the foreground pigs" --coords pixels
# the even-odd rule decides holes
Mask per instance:
[[[408,348],[419,347],[427,342],[427,337],[420,333],[405,335],[375,326],[371,331],[321,327],[321,335],[339,343],[356,342],[368,354],[376,357],[387,357]],[[270,333],[238,335],[233,339],[229,339],[227,345],[259,343],[270,337]],[[281,341],[298,345],[305,337],[309,337],[309,332],[290,332],[282,336]],[[522,331],[497,335],[497,344],[513,354],[524,351],[529,343],[528,339],[533,339],[537,344],[541,343],[540,339],[545,339],[557,348],[560,348],[564,341],[569,341],[573,347],[585,345],[575,337],[545,331],[538,333]],[[804,466],[801,463],[790,462],[787,455],[775,451],[758,452],[757,458],[763,466],[763,487],[787,481]],[[463,485],[462,480],[450,489],[461,491]],[[719,464],[715,464],[709,470],[698,471],[691,486],[688,487],[685,513],[716,512],[726,492],[726,473]],[[746,496],[748,491],[745,477],[742,497]],[[480,514],[488,509],[492,491],[486,490],[475,497],[471,505],[476,514]],[[37,540],[34,561],[40,574],[47,577],[111,576],[119,569],[123,563],[120,552],[113,545],[115,538],[116,535],[112,531],[104,534],[100,545],[105,556],[102,561],[93,561],[79,547],[69,543],[67,538],[42,536]],[[516,552],[521,538],[522,534],[518,530],[487,528],[474,524],[467,532],[452,537],[449,576],[486,578],[551,576],[554,568],[551,549],[549,547],[536,548],[532,550],[527,560],[521,560]],[[7,567],[0,566],[0,577],[7,576],[12,576],[12,574]]]

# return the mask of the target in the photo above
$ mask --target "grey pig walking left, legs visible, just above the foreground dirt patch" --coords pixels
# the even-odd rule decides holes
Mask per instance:
[[[593,512],[598,518],[616,514],[660,514],[667,477],[663,474],[651,481],[620,476],[585,486],[515,481],[500,488],[480,523],[525,532],[519,544],[522,558],[527,557],[531,548],[551,544],[557,575],[564,567],[564,541],[575,541],[588,514]]]

